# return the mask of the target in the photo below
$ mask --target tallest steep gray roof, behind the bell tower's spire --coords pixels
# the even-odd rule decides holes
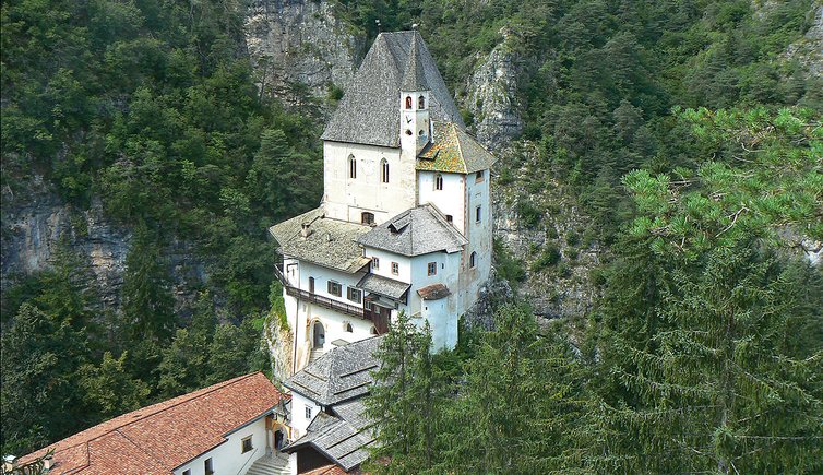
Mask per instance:
[[[465,129],[434,59],[426,48],[420,34],[412,31],[378,35],[321,139],[399,146],[399,93],[413,41],[418,46],[417,62],[422,74],[420,81],[431,91],[429,117],[433,120],[454,122],[461,129]]]

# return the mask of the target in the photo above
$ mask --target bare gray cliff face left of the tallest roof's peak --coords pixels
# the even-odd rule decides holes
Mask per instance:
[[[279,96],[294,83],[321,97],[332,85],[345,88],[365,47],[335,19],[332,2],[312,0],[253,0],[246,41],[260,87]]]

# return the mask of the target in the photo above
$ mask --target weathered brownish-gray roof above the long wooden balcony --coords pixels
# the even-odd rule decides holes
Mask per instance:
[[[281,245],[281,253],[325,268],[355,273],[369,263],[355,242],[371,227],[324,217],[323,207],[309,211],[269,228]],[[303,224],[309,236],[303,237]]]

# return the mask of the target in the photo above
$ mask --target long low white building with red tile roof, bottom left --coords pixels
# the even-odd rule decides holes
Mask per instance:
[[[288,439],[278,411],[286,402],[255,372],[123,414],[16,462],[51,453],[49,474],[242,475]]]

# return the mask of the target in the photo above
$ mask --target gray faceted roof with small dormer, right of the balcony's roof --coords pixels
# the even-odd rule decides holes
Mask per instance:
[[[468,241],[431,204],[406,210],[358,237],[357,242],[402,256],[456,252]]]

